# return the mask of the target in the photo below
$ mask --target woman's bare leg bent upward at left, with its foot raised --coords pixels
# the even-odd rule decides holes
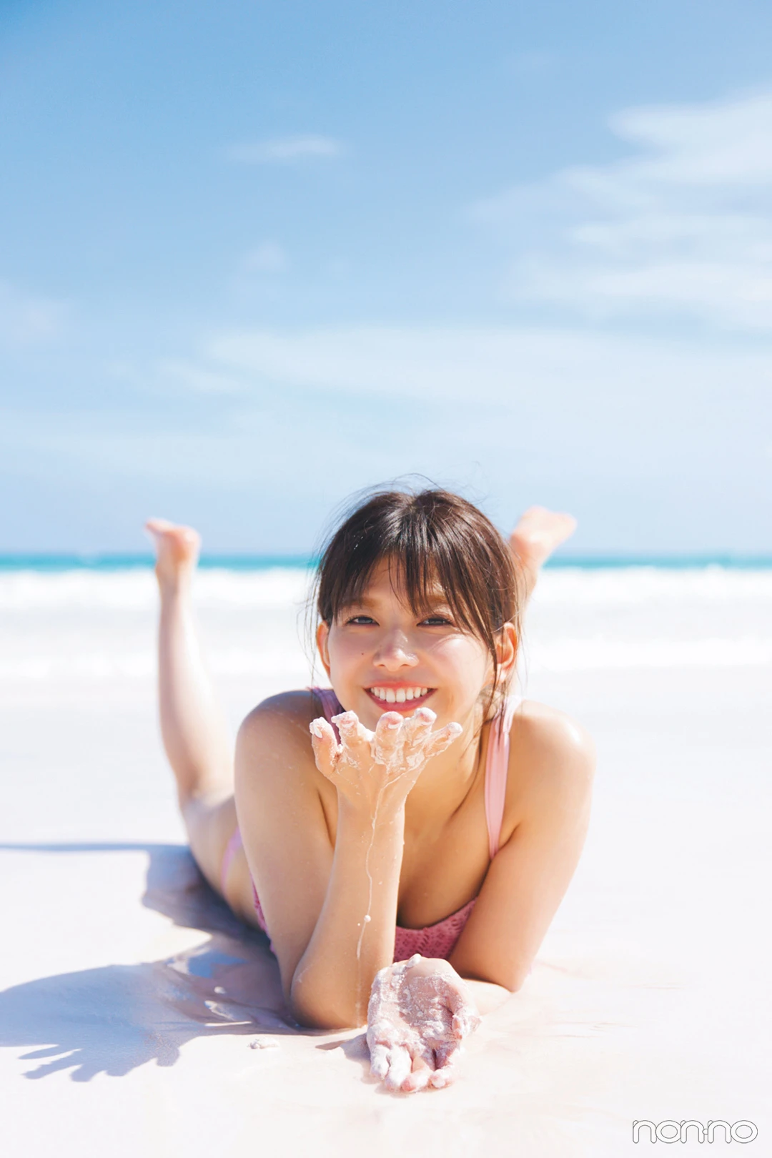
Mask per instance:
[[[191,581],[200,537],[190,527],[175,527],[162,519],[148,520],[146,528],[155,542],[161,593],[159,701],[163,747],[177,782],[191,850],[206,879],[221,892],[220,870],[226,844],[236,828],[236,808],[226,721],[204,666],[192,616]]]

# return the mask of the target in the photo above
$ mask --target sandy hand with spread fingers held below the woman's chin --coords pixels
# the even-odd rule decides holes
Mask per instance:
[[[355,712],[333,716],[340,743],[323,718],[311,720],[311,746],[316,767],[334,784],[338,796],[358,811],[374,816],[384,801],[404,805],[407,793],[432,756],[444,752],[461,733],[461,724],[447,724],[432,731],[436,716],[419,708],[405,719],[399,712],[384,712],[375,732]]]

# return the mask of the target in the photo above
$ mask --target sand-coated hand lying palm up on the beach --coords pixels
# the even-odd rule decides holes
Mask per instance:
[[[370,1072],[403,1093],[449,1085],[461,1043],[479,1024],[469,987],[446,960],[417,953],[389,965],[367,1010]]]

